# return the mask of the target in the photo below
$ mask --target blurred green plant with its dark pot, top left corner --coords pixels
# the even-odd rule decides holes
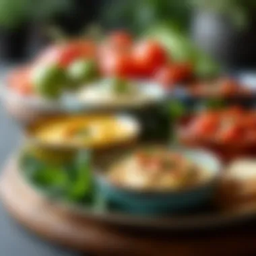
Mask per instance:
[[[70,0],[1,0],[1,58],[17,61],[26,57],[33,32],[40,36],[42,24],[49,24],[55,15],[67,11],[70,4]]]

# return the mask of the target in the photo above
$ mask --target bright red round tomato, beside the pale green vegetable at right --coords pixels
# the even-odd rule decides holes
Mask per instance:
[[[166,64],[168,59],[164,48],[154,41],[135,44],[132,56],[136,73],[142,77],[153,75],[157,69]]]

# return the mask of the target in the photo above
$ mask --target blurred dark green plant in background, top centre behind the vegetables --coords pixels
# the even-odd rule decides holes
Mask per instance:
[[[187,28],[191,15],[187,1],[109,0],[102,5],[102,24],[110,28],[125,27],[138,34],[158,22],[170,20],[181,28]]]

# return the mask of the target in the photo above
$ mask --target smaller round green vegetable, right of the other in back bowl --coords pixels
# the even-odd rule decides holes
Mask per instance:
[[[69,66],[68,75],[73,81],[73,85],[82,85],[82,83],[92,82],[98,77],[96,63],[93,60],[80,59],[74,61]]]

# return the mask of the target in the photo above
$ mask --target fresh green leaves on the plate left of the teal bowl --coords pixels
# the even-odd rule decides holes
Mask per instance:
[[[73,203],[92,200],[94,187],[88,152],[79,152],[69,162],[55,164],[36,158],[26,150],[19,164],[29,183],[49,197]]]

